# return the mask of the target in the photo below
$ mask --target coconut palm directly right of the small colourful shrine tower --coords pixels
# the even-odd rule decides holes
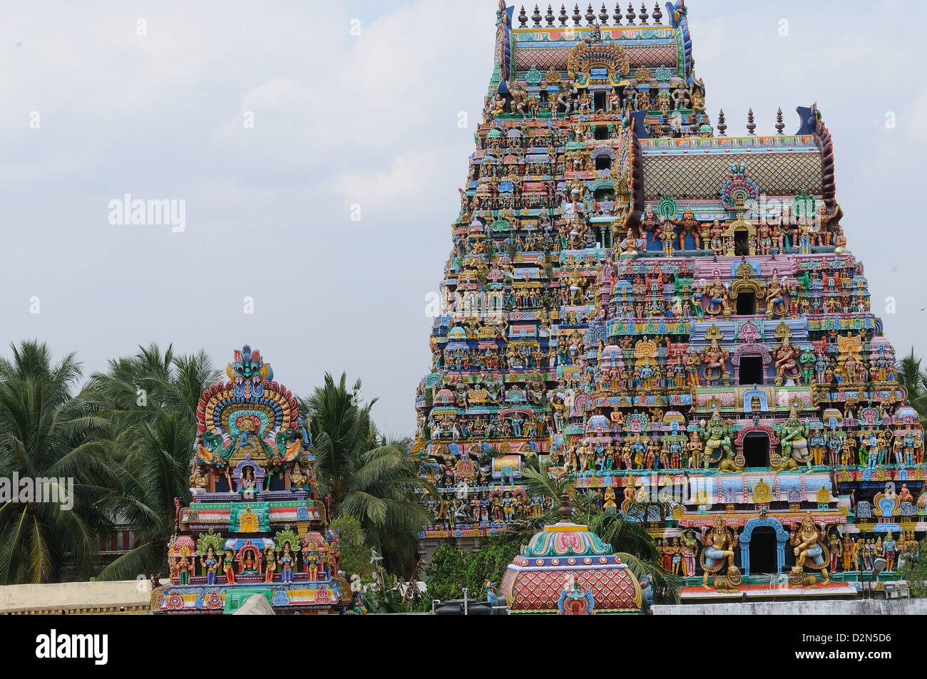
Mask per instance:
[[[346,375],[336,383],[326,373],[308,399],[318,484],[333,518],[358,519],[387,569],[408,572],[418,531],[430,521],[421,493],[438,491],[419,476],[408,440],[387,440],[377,432],[371,419],[376,399],[362,403],[360,391],[360,380],[349,389]]]

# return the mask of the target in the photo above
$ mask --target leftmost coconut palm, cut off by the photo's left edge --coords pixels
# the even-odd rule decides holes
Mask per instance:
[[[34,341],[12,350],[0,358],[0,584],[56,582],[66,566],[89,575],[110,530],[96,502],[120,475],[101,443],[107,422],[92,398],[72,397],[82,377],[74,354],[53,363]],[[21,484],[9,487],[14,475],[32,480],[28,501]]]

